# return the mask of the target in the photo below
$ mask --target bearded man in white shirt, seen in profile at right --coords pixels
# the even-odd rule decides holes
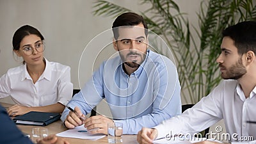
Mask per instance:
[[[152,129],[138,132],[139,143],[195,134],[223,119],[231,143],[256,143],[256,22],[239,22],[223,31],[217,58],[224,79],[193,108]],[[251,122],[249,122],[251,121]],[[193,135],[192,135],[193,136]],[[250,141],[246,141],[252,139]],[[202,141],[200,143],[218,143]]]

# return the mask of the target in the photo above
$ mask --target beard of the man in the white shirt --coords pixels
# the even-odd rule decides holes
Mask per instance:
[[[224,66],[222,66],[220,64],[220,67],[225,68]],[[239,79],[242,76],[244,76],[244,74],[246,74],[246,68],[243,65],[242,62],[242,58],[240,58],[239,60],[237,60],[237,62],[232,65],[230,68],[225,68],[226,72],[222,72],[221,73],[221,77],[223,79]]]

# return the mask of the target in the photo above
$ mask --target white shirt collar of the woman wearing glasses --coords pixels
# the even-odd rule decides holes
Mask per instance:
[[[48,60],[46,60],[46,58],[44,58],[44,60],[45,60],[45,70],[44,70],[42,76],[40,76],[40,78],[38,80],[45,78],[48,81],[51,81],[51,76],[52,76],[51,65],[50,65],[50,62]],[[31,76],[28,73],[26,63],[23,66],[23,74],[22,74],[22,77],[21,77],[21,81],[24,81],[25,79],[31,79],[32,80]]]

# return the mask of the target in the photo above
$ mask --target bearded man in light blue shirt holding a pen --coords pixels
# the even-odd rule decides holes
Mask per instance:
[[[108,133],[108,123],[123,124],[123,134],[137,134],[181,113],[180,84],[171,60],[148,49],[148,29],[143,17],[123,13],[113,22],[113,46],[119,56],[104,61],[99,70],[74,95],[61,120],[72,129],[84,124],[91,133]],[[102,99],[113,119],[98,115],[82,120]]]

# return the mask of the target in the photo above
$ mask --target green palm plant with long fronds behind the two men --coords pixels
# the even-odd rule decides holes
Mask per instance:
[[[237,22],[256,20],[253,0],[202,0],[198,12],[199,29],[191,26],[186,13],[180,12],[174,1],[141,0],[141,4],[150,5],[140,14],[147,20],[148,29],[161,36],[170,47],[179,73],[182,99],[192,104],[211,92],[221,80],[216,63],[220,54],[221,31]],[[95,2],[94,9],[94,15],[112,17],[132,12],[99,0]],[[191,28],[196,35],[191,35]]]

